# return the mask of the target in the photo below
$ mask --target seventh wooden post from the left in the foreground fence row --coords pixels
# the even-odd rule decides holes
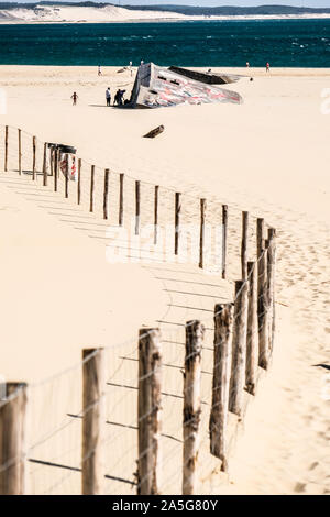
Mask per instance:
[[[257,304],[256,304],[256,263],[248,262],[249,307],[246,334],[245,386],[248,393],[255,395],[257,354]]]

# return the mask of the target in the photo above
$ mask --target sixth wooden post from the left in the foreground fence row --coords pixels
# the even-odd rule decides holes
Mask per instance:
[[[232,336],[232,363],[229,388],[229,410],[241,416],[245,386],[248,283],[235,282],[234,321]]]

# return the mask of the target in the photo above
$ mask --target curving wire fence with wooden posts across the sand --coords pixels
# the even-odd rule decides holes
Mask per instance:
[[[68,202],[77,204],[81,213],[88,212],[89,217],[102,220],[105,228],[100,228],[99,232],[94,231],[92,237],[105,240],[109,248],[124,244],[124,256],[132,254],[142,262],[150,262],[154,272],[157,262],[166,264],[172,261],[179,262],[180,258],[185,261],[187,255],[194,264],[200,265],[202,254],[205,271],[217,273],[219,283],[221,276],[232,283],[235,278],[242,278],[243,270],[246,270],[246,253],[243,255],[243,249],[248,243],[254,243],[249,250],[249,256],[253,260],[252,266],[243,274],[242,282],[237,284],[235,295],[229,294],[226,298],[233,307],[233,316],[227,329],[227,344],[219,342],[219,334],[215,332],[215,319],[224,310],[224,305],[219,308],[216,304],[223,302],[223,299],[218,299],[215,295],[212,304],[216,305],[216,311],[213,307],[210,308],[209,301],[207,308],[204,308],[202,304],[199,307],[201,310],[198,314],[205,311],[206,315],[201,320],[204,339],[200,378],[197,376],[188,389],[187,386],[185,389],[184,384],[189,364],[187,329],[191,327],[191,322],[187,323],[184,319],[160,321],[161,363],[150,369],[150,383],[146,386],[143,384],[145,376],[139,374],[139,365],[141,367],[143,361],[141,342],[150,336],[147,330],[143,333],[143,329],[139,339],[134,338],[116,346],[105,346],[102,352],[96,350],[72,369],[42,383],[16,387],[13,393],[9,393],[7,386],[7,396],[0,400],[0,437],[3,437],[3,427],[12,422],[8,411],[16,411],[14,421],[19,422],[16,425],[20,429],[23,428],[24,432],[18,438],[14,428],[6,429],[9,438],[0,453],[0,493],[80,494],[86,493],[86,486],[89,486],[92,493],[134,494],[141,493],[145,476],[154,476],[157,479],[153,488],[156,493],[180,494],[185,486],[184,476],[187,475],[188,463],[191,463],[184,460],[183,449],[190,440],[198,450],[198,461],[194,465],[196,473],[190,473],[194,477],[191,493],[210,493],[212,484],[219,483],[221,479],[221,469],[227,470],[227,457],[234,442],[239,420],[251,397],[251,394],[248,394],[248,375],[251,376],[252,369],[257,382],[261,372],[267,369],[273,351],[274,232],[268,229],[266,241],[265,228],[260,227],[257,234],[257,218],[250,215],[248,232],[243,235],[242,211],[238,207],[229,207],[228,222],[224,223],[223,205],[217,199],[208,199],[206,210],[201,215],[201,200],[196,196],[139,182],[124,173],[107,173],[106,169],[75,155],[68,158],[68,153],[63,153],[62,156],[54,145],[50,146],[15,128],[1,127],[0,142],[0,160],[3,157],[4,172],[16,172],[25,179],[31,177],[37,185],[54,190]],[[70,175],[75,180],[70,179]],[[75,213],[76,218],[78,216]],[[84,226],[84,221],[78,220],[77,224]],[[166,230],[168,226],[169,238]],[[195,229],[193,238],[191,227]],[[205,232],[208,227],[220,227],[218,242],[217,233],[213,233],[209,241],[206,240]],[[143,246],[145,228],[152,234],[152,253],[147,253]],[[119,229],[125,231],[124,237],[123,233],[118,233]],[[150,234],[146,240],[148,238]],[[142,249],[145,256],[141,253]],[[168,249],[172,250],[170,253]],[[166,286],[168,282],[173,280],[165,279]],[[174,280],[172,292],[178,292],[179,296],[185,297],[180,282],[187,283]],[[229,284],[229,287],[230,293],[232,284]],[[194,292],[188,294],[193,295]],[[254,326],[250,315],[254,317]],[[223,376],[220,385],[215,381],[216,370],[219,367],[219,363],[215,362],[217,346],[229,348],[229,359],[221,360]],[[97,436],[90,436],[92,431],[88,435],[91,443],[86,453],[86,443],[82,443],[84,426],[88,426],[91,408],[86,407],[84,396],[84,366],[100,353],[105,381],[100,387],[101,393],[91,406],[100,410],[101,419]],[[193,356],[197,360],[198,353],[193,353]],[[141,415],[139,397],[143,399],[143,393],[145,399],[151,396],[154,386],[152,383],[158,370],[162,372],[161,404],[151,406],[148,413]],[[142,393],[142,388],[146,392]],[[197,438],[194,431],[188,437],[186,433],[184,440],[185,426],[191,424],[191,420],[183,419],[184,405],[190,389],[197,393],[198,407],[195,409],[198,418],[194,417],[193,422]],[[224,444],[226,459],[210,453],[210,415],[215,409],[213,394],[219,389],[222,394],[221,415],[224,424],[222,421],[218,431],[219,440]],[[25,391],[26,404],[21,400],[21,394]],[[239,399],[240,410],[237,413],[229,410],[233,397]],[[20,404],[15,407],[14,403],[18,400]],[[25,422],[25,414],[26,425],[22,424]],[[156,430],[152,426],[154,417],[161,422],[160,429]],[[99,417],[94,415],[92,418],[97,421]],[[217,431],[215,426],[213,431]],[[143,433],[148,438],[147,447],[141,452],[140,439]],[[150,460],[150,455],[152,462],[148,464],[152,466],[143,473],[142,460],[144,457]],[[98,474],[95,476],[91,472],[95,473],[96,466]],[[20,473],[19,476],[16,472]],[[222,475],[224,482],[226,473]],[[20,483],[11,481],[19,477]]]

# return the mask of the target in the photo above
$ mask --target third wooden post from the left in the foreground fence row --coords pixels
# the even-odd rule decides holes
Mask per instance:
[[[162,432],[162,344],[158,329],[139,331],[138,418],[138,495],[157,495]]]

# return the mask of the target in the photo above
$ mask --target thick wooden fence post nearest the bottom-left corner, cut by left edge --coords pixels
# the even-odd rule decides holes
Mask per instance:
[[[0,495],[25,492],[26,392],[24,383],[7,383],[8,400],[0,400]]]

